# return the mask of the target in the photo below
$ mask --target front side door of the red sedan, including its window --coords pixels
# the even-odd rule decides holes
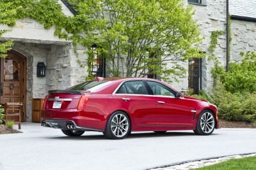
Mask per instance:
[[[175,97],[175,91],[156,81],[147,81],[156,100],[156,127],[187,127],[191,125],[191,107],[184,97]]]

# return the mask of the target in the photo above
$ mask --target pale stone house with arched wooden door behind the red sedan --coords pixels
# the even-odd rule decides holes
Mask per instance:
[[[179,78],[179,82],[166,82],[182,92],[188,88],[208,90],[212,86],[211,68],[214,62],[209,60],[209,43],[211,32],[226,31],[227,29],[227,0],[183,0],[184,3],[192,5],[196,10],[195,20],[198,20],[202,30],[202,52],[206,53],[204,59],[190,60],[182,64],[188,73],[185,77]],[[256,3],[254,0],[229,0],[230,14],[232,16],[231,32],[231,62],[241,60],[240,51],[254,51],[256,46]],[[67,16],[74,16],[76,13],[65,0],[58,0],[62,11]],[[253,11],[254,10],[254,11]],[[250,13],[252,11],[252,13]],[[45,30],[44,26],[36,20],[25,18],[18,20],[16,25],[8,27],[0,25],[0,29],[10,29],[3,35],[1,41],[13,39],[15,45],[13,50],[8,52],[6,59],[1,59],[1,101],[22,102],[22,120],[24,122],[40,121],[40,104],[48,90],[65,89],[84,81],[88,75],[87,68],[79,67],[77,57],[81,62],[86,63],[86,50],[83,46],[77,46],[77,53],[74,53],[72,41],[66,41],[54,36],[54,27]],[[223,68],[227,66],[227,35],[218,37],[218,44],[214,54],[218,57]],[[97,60],[92,73],[99,76],[108,76],[100,72],[102,60]],[[42,70],[38,70],[43,66]],[[44,69],[44,66],[46,69]],[[39,115],[39,116],[38,116]],[[38,120],[39,118],[39,120]]]

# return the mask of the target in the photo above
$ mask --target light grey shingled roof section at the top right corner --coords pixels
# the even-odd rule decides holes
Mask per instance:
[[[228,6],[232,19],[256,22],[255,0],[229,0]]]

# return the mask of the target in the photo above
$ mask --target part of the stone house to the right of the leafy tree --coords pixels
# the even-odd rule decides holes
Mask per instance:
[[[228,6],[227,6],[228,1]],[[231,20],[230,59],[227,58],[227,33],[218,37],[214,55],[218,57],[223,69],[227,69],[228,62],[239,62],[239,53],[256,51],[256,1],[255,0],[188,0],[196,10],[195,20],[198,20],[204,41],[201,48],[206,52],[202,60],[189,62],[189,71],[184,79],[180,79],[176,89],[186,91],[188,87],[205,91],[212,87],[211,69],[214,61],[209,60],[209,46],[211,34],[214,31],[227,31],[227,7]],[[197,64],[196,64],[197,63]],[[193,66],[193,64],[195,66]],[[192,68],[192,70],[191,70]],[[195,69],[195,71],[193,71]],[[199,71],[197,71],[199,69]],[[189,81],[188,81],[189,78]],[[186,84],[188,82],[188,84]],[[183,89],[184,88],[184,89]]]

